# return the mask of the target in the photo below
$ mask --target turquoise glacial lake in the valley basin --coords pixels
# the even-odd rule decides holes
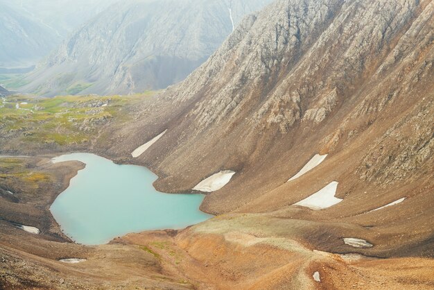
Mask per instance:
[[[73,153],[53,162],[77,160],[85,169],[51,205],[64,234],[85,245],[144,230],[179,229],[212,216],[199,210],[202,194],[164,194],[146,167],[118,165],[98,155]]]

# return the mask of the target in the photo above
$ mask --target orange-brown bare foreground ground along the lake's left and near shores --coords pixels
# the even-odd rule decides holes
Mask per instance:
[[[315,250],[297,237],[304,221],[277,213],[225,214],[180,231],[128,234],[101,246],[73,244],[60,232],[49,206],[83,164],[60,166],[49,157],[0,158],[1,289],[434,287],[434,259]],[[6,196],[6,190],[19,194]],[[18,223],[40,234],[25,232]],[[59,261],[67,258],[85,261]]]

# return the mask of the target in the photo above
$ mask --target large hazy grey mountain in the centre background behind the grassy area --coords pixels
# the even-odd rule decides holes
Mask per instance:
[[[132,0],[73,33],[21,88],[55,94],[162,89],[205,62],[234,26],[271,0]]]

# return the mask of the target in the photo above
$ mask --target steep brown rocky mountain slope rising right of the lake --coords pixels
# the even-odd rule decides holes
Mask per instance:
[[[159,174],[161,191],[232,170],[203,210],[302,220],[298,238],[321,250],[356,236],[377,245],[368,255],[433,255],[433,5],[276,1],[101,153],[129,155],[167,129],[134,160]],[[329,155],[286,182],[316,153]],[[338,205],[293,205],[331,182]],[[370,212],[400,198],[397,210]]]

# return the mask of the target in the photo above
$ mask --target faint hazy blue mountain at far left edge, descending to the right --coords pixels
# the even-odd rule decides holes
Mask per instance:
[[[60,42],[55,31],[0,1],[0,67],[29,67]]]

